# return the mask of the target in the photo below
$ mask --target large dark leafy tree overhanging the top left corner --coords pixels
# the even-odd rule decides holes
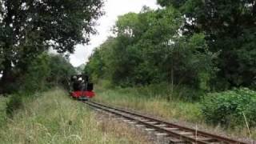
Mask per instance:
[[[78,43],[89,42],[101,7],[101,0],[1,0],[1,86],[14,78],[14,67],[25,71],[49,47],[72,53]]]

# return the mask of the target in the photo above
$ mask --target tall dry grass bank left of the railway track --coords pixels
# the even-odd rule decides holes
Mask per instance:
[[[139,139],[102,130],[102,122],[63,90],[39,94],[0,130],[0,143],[136,143]]]

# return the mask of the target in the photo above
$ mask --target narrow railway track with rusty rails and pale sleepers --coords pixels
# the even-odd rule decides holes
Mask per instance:
[[[215,134],[194,130],[185,126],[165,122],[142,114],[122,110],[117,107],[103,105],[97,102],[85,102],[94,109],[103,110],[118,117],[125,118],[136,126],[145,126],[146,130],[152,130],[162,134],[170,143],[198,143],[198,144],[246,144],[231,138],[225,138]]]

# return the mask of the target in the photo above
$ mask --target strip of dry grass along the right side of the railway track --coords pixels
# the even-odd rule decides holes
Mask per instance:
[[[202,117],[198,102],[184,102],[178,99],[167,102],[166,99],[160,98],[158,95],[142,94],[136,89],[104,90],[102,87],[98,87],[97,94],[95,100],[98,102],[138,110],[181,125],[190,127],[197,125],[199,130],[250,141],[246,125],[232,129],[207,125]],[[256,129],[252,129],[251,134],[251,138],[256,139]]]

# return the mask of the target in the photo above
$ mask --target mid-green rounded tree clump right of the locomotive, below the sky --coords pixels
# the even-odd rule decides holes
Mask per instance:
[[[173,8],[129,13],[118,18],[116,38],[108,38],[90,57],[86,72],[118,86],[174,82],[209,90],[214,58],[204,34],[181,36],[182,18]]]

